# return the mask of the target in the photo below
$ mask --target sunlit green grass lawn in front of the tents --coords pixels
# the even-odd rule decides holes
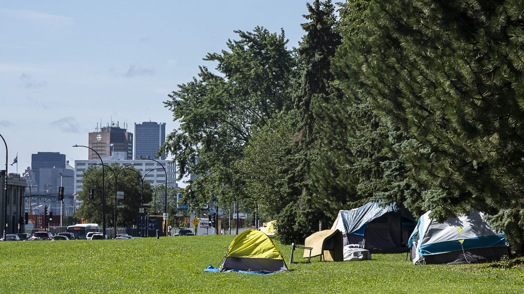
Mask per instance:
[[[203,272],[208,264],[220,266],[233,238],[1,242],[0,293],[524,292],[524,268],[415,266],[405,262],[406,254],[339,263],[315,257],[268,276]],[[288,263],[290,246],[277,245]]]

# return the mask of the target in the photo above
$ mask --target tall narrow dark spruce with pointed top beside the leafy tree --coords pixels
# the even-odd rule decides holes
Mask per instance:
[[[307,32],[298,48],[299,73],[294,95],[297,134],[286,152],[281,170],[282,193],[288,205],[279,213],[278,230],[283,242],[301,242],[318,231],[319,221],[325,214],[314,205],[316,195],[312,191],[311,166],[318,159],[319,141],[315,133],[314,105],[328,98],[330,60],[340,44],[336,31],[334,6],[330,0],[307,4],[309,14],[302,24]]]

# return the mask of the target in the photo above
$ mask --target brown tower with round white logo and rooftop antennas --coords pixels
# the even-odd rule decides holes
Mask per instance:
[[[111,126],[96,128],[96,132],[89,133],[89,146],[106,159],[132,160],[133,133],[118,127],[118,122]],[[120,158],[121,157],[121,158]],[[88,159],[97,160],[99,157],[92,150],[88,150]]]

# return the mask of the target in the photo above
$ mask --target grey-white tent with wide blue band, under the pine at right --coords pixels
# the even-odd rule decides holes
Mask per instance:
[[[495,261],[508,254],[506,235],[495,232],[484,221],[482,212],[473,210],[443,223],[429,214],[420,217],[409,238],[413,264]]]

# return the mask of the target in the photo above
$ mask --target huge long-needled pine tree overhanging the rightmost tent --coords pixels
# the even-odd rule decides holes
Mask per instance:
[[[478,209],[524,241],[524,6],[374,1],[347,80],[414,139],[419,203],[440,220]]]

